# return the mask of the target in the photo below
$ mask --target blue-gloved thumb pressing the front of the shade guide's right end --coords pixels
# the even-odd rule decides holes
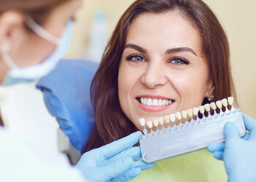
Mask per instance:
[[[230,140],[230,138],[240,138],[240,133],[238,130],[238,127],[234,122],[227,122],[224,126],[224,137],[227,141]]]

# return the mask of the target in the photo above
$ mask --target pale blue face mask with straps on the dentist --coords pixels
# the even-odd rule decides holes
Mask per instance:
[[[33,82],[41,78],[42,76],[47,75],[50,71],[53,70],[53,68],[55,68],[62,56],[66,54],[69,50],[73,27],[72,20],[69,20],[69,22],[67,23],[67,27],[62,33],[61,39],[58,39],[45,31],[40,25],[35,23],[34,20],[31,19],[31,17],[27,17],[25,23],[29,26],[29,28],[31,28],[32,31],[37,33],[43,39],[46,39],[53,44],[56,44],[56,50],[54,50],[54,52],[52,52],[48,56],[48,58],[43,60],[42,63],[39,63],[36,66],[18,68],[12,58],[10,58],[10,56],[8,55],[10,47],[8,45],[4,45],[4,47],[1,47],[1,58],[4,60],[5,63],[7,63],[7,66],[9,66],[11,69],[10,71],[8,71],[2,85]]]

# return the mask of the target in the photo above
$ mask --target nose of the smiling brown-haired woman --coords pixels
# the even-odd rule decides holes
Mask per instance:
[[[149,88],[161,87],[167,83],[165,70],[159,65],[148,65],[141,82]]]

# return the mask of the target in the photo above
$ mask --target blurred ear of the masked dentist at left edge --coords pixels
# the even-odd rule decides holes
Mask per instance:
[[[10,44],[15,47],[15,42],[22,39],[24,33],[24,15],[18,11],[6,11],[0,15],[0,46]],[[21,37],[20,37],[21,36]]]

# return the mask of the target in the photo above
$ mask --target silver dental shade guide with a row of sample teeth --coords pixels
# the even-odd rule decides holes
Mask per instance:
[[[228,109],[230,105],[230,109]],[[225,111],[222,111],[222,106]],[[213,111],[211,115],[210,108]],[[216,109],[219,108],[217,114]],[[199,118],[198,113],[202,114]],[[193,116],[196,119],[193,119]],[[144,122],[144,135],[140,137],[140,149],[143,161],[154,163],[169,157],[175,157],[192,151],[206,148],[210,143],[220,143],[225,141],[223,129],[226,122],[234,122],[238,126],[241,136],[244,136],[246,129],[244,126],[241,110],[233,107],[233,97],[218,100],[216,103],[206,104],[198,108],[188,109],[187,111],[170,114],[161,119],[154,119],[154,126],[157,131],[152,130],[152,122],[147,122],[151,132],[147,133]],[[175,120],[179,124],[176,125]],[[181,122],[184,119],[184,124]],[[189,122],[190,119],[190,122]],[[142,119],[143,120],[143,119]],[[157,123],[158,121],[158,123]],[[161,124],[160,124],[161,121]],[[163,123],[167,123],[167,128]],[[169,122],[173,122],[170,127]],[[162,128],[159,128],[162,125]]]

